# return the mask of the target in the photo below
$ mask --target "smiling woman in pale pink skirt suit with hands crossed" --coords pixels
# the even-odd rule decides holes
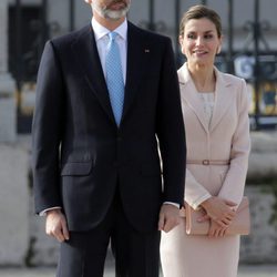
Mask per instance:
[[[178,70],[187,136],[185,201],[203,207],[207,236],[185,234],[185,218],[162,234],[164,277],[235,277],[239,236],[227,236],[240,203],[248,164],[248,98],[244,80],[219,72],[220,18],[205,6],[183,17],[179,43],[187,62]],[[203,218],[202,220],[205,220]]]

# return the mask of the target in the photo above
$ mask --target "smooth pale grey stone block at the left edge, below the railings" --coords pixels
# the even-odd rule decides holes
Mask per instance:
[[[0,144],[0,265],[23,265],[29,243],[29,152]]]

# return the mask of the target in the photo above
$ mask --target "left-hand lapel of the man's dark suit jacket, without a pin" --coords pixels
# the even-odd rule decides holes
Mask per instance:
[[[72,52],[89,86],[99,99],[109,117],[115,123],[91,24],[81,30],[76,41],[72,44]]]

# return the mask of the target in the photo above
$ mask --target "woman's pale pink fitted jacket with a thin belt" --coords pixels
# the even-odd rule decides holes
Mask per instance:
[[[229,165],[187,164],[185,199],[194,208],[211,195],[239,203],[248,166],[250,138],[246,83],[217,69],[215,73],[215,105],[208,124],[186,63],[178,70],[187,161],[230,161]]]

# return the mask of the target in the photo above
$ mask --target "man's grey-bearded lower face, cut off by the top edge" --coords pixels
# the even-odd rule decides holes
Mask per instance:
[[[119,20],[126,16],[131,0],[85,0],[102,18]]]

